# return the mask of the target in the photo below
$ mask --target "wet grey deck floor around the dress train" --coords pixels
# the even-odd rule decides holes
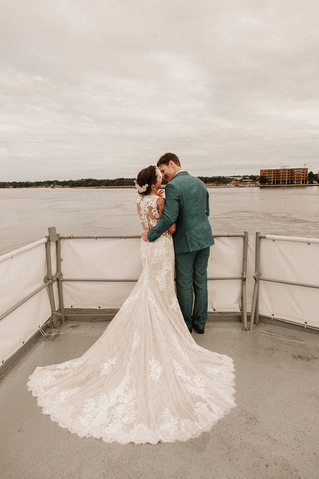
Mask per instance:
[[[38,340],[1,379],[1,479],[319,478],[318,334],[208,323],[193,336],[233,358],[238,407],[187,442],[121,445],[60,428],[26,388],[36,366],[81,356],[107,325],[67,322],[57,341]]]

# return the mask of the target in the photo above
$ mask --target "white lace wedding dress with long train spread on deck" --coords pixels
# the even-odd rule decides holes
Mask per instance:
[[[136,200],[143,228],[159,220],[156,200]],[[29,378],[43,413],[80,437],[186,441],[235,406],[232,359],[199,347],[179,309],[171,235],[142,240],[141,252],[143,273],[99,340]]]

